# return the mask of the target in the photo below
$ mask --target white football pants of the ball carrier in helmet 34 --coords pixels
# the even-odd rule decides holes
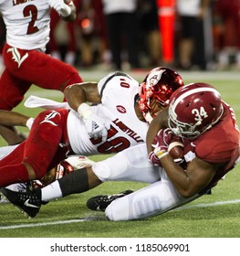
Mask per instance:
[[[200,197],[181,197],[164,169],[148,162],[146,144],[130,147],[94,164],[93,171],[102,181],[128,180],[151,183],[148,187],[114,200],[105,211],[106,217],[110,220],[153,217]]]

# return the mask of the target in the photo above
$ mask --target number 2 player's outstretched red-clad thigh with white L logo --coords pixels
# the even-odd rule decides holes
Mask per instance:
[[[64,91],[68,85],[82,81],[77,69],[38,50],[6,45],[4,57],[6,68],[14,77],[44,89]]]

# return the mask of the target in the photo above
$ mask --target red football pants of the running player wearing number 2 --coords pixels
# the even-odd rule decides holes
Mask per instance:
[[[64,91],[68,85],[82,82],[77,69],[38,50],[5,44],[3,57],[5,70],[0,79],[0,109],[16,107],[32,84]]]

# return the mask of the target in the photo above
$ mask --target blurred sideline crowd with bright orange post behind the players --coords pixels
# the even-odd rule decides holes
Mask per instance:
[[[73,0],[68,24],[52,10],[47,53],[81,69],[240,69],[240,0]],[[0,19],[1,52],[5,25]]]

